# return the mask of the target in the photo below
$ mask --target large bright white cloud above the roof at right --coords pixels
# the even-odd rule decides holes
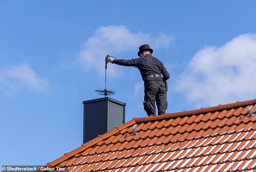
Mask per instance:
[[[189,62],[176,89],[188,102],[216,106],[256,98],[256,34],[243,34],[221,47],[206,46]]]

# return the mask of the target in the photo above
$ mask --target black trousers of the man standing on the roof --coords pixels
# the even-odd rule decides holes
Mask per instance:
[[[156,115],[155,103],[158,110],[158,115],[166,114],[167,100],[164,83],[160,81],[149,81],[144,83],[144,110],[147,115]]]

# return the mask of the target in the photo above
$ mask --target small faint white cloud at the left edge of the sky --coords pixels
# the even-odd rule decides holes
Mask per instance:
[[[39,78],[28,64],[0,67],[0,89],[9,93],[19,89],[47,91],[48,80]]]

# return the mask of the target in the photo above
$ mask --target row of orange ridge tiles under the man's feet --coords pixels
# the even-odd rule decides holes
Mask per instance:
[[[132,119],[135,122],[147,122],[147,121],[153,121],[153,120],[162,120],[166,118],[174,118],[174,117],[180,117],[180,116],[189,116],[189,115],[195,115],[195,114],[208,113],[208,112],[237,108],[237,107],[248,106],[253,104],[256,104],[256,99],[246,100],[242,102],[237,101],[235,103],[224,104],[224,105],[218,104],[218,106],[212,106],[209,108],[200,108],[196,110],[188,110],[188,111],[183,110],[182,112],[166,113],[164,115],[158,115],[158,116],[139,117],[139,118],[133,117]]]

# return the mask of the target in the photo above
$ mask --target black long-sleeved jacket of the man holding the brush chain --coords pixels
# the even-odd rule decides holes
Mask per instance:
[[[114,64],[122,65],[122,66],[135,66],[141,72],[141,77],[143,81],[145,81],[145,77],[148,75],[163,75],[163,80],[166,81],[170,78],[170,75],[164,64],[158,60],[157,58],[153,57],[151,54],[147,54],[145,57],[134,58],[131,60],[122,60],[122,59],[115,59],[113,60]],[[161,77],[152,77],[154,80],[162,81]]]

